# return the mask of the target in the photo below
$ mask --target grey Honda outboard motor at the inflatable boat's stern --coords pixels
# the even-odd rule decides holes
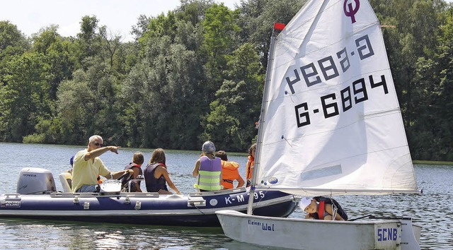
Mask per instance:
[[[52,172],[39,167],[24,167],[19,174],[18,194],[47,194],[56,191]]]

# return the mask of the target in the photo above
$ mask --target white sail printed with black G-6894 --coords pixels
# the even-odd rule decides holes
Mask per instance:
[[[309,1],[270,56],[258,186],[304,196],[417,191],[382,31],[367,1]]]

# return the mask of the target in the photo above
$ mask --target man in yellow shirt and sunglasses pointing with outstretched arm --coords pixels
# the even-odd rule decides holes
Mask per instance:
[[[118,149],[120,148],[121,147],[117,146],[103,147],[103,139],[101,136],[91,136],[88,140],[88,148],[80,150],[74,156],[71,191],[73,193],[96,191],[98,175],[107,179],[112,177],[113,179],[117,179],[127,172],[129,172],[129,174],[134,174],[132,169],[122,170],[120,172],[110,172],[99,158],[99,156],[107,151],[117,154]]]

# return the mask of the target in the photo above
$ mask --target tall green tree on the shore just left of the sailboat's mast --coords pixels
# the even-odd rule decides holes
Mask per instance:
[[[226,80],[216,92],[217,99],[205,116],[205,138],[225,150],[240,151],[256,136],[264,78],[258,52],[245,43],[228,56]]]

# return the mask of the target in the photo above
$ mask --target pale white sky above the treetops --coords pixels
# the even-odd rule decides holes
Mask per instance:
[[[215,0],[234,9],[240,0]],[[134,39],[132,25],[140,15],[158,16],[180,6],[180,0],[0,0],[0,20],[8,20],[23,34],[30,36],[55,24],[64,37],[80,32],[83,16],[96,16],[98,27],[105,25],[113,35],[121,35],[123,42]]]

